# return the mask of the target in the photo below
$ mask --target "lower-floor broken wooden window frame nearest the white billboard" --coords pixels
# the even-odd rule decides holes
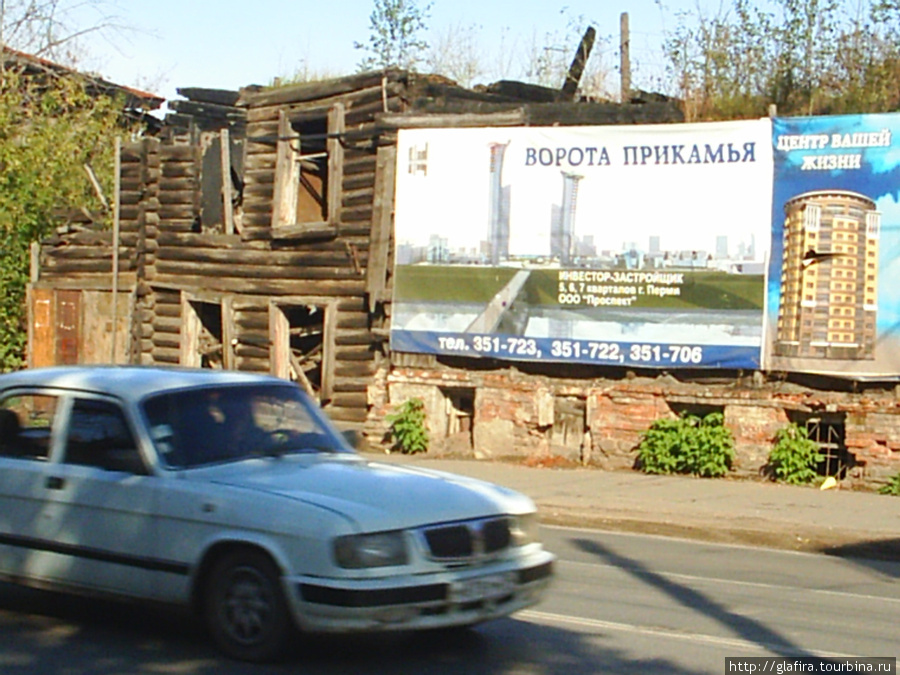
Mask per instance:
[[[304,377],[295,381],[320,405],[331,400],[334,394],[335,332],[338,302],[332,297],[283,296],[269,301],[269,372],[285,380],[291,377],[290,321],[286,309],[298,306],[315,307],[322,314],[322,363],[319,390]],[[294,368],[296,372],[296,368]]]

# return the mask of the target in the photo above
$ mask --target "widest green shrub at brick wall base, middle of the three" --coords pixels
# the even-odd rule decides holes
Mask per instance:
[[[638,445],[644,473],[724,476],[734,461],[734,438],[721,413],[656,420]]]

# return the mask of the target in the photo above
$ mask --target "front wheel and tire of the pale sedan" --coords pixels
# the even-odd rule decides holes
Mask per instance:
[[[239,661],[278,659],[295,631],[279,571],[259,551],[234,551],[213,565],[204,615],[216,646]]]

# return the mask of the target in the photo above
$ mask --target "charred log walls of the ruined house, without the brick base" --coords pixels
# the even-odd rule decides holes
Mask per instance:
[[[404,126],[676,121],[388,71],[276,89],[185,89],[121,146],[115,222],[35,249],[32,366],[180,364],[299,381],[362,426],[387,343],[394,139]]]

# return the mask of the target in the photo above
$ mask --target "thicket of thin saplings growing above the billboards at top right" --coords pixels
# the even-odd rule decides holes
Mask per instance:
[[[682,13],[667,36],[669,73],[688,120],[895,110],[896,0],[732,0]]]

